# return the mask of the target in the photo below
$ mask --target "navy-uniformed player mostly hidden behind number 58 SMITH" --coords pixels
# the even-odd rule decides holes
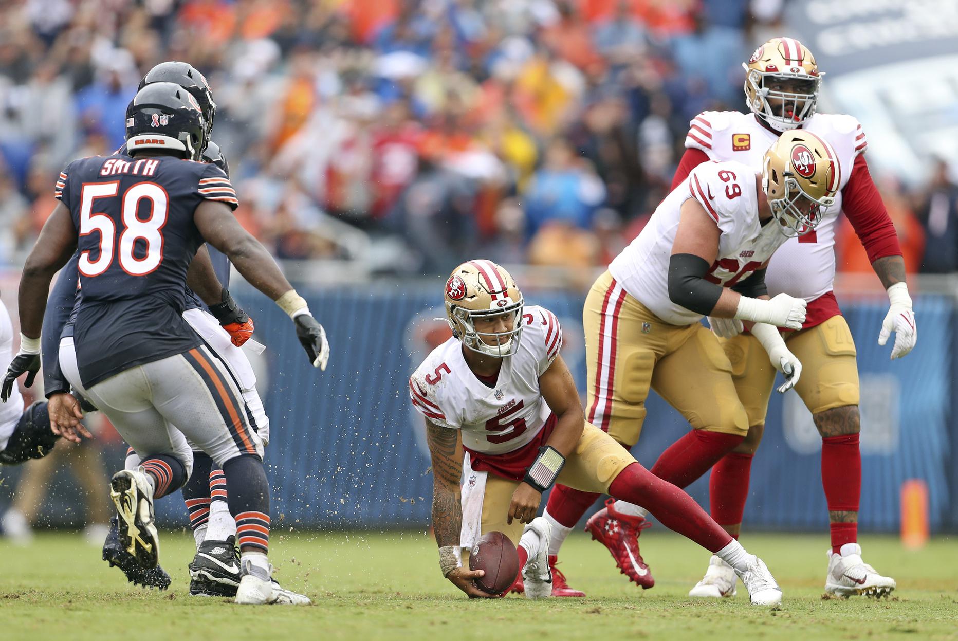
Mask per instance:
[[[140,88],[152,82],[164,81],[175,82],[190,92],[203,113],[206,134],[209,136],[217,105],[205,77],[186,62],[161,62],[140,81]],[[126,152],[125,145],[117,150],[120,154]],[[213,163],[229,177],[229,166],[216,143],[207,139],[201,160]],[[64,336],[73,335],[73,324],[68,319],[77,300],[78,260],[79,255],[75,254],[60,271],[47,304],[41,352],[48,397],[69,391],[69,383],[59,368],[59,342]],[[269,442],[269,419],[256,389],[253,368],[239,349],[252,335],[253,321],[230,296],[227,289],[229,277],[229,259],[209,244],[201,247],[188,272],[189,289],[184,317],[209,347],[226,361],[265,445]],[[10,377],[16,378],[22,371],[11,368]],[[70,403],[73,403],[70,399],[63,401],[64,405]],[[76,404],[66,409],[76,411]],[[132,449],[126,467],[135,469],[140,462],[131,452]],[[183,499],[197,547],[194,561],[190,564],[191,595],[234,596],[239,586],[239,564],[233,562],[237,555],[236,522],[229,513],[227,496],[222,470],[215,469],[213,460],[194,447],[193,474],[183,486]],[[103,543],[103,561],[108,561],[110,566],[120,567],[127,580],[134,584],[161,589],[170,585],[170,576],[162,567],[145,570],[126,554],[119,544],[118,535],[118,523],[114,518],[110,533]]]

